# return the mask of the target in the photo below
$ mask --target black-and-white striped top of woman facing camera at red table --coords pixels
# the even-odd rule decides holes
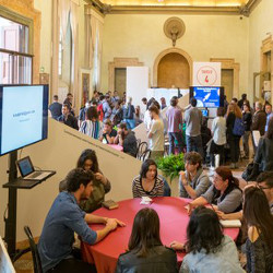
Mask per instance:
[[[158,176],[155,179],[154,188],[151,191],[145,191],[142,187],[142,182],[140,176],[136,176],[133,179],[132,183],[133,198],[142,198],[142,197],[163,197],[164,195],[164,181]]]

